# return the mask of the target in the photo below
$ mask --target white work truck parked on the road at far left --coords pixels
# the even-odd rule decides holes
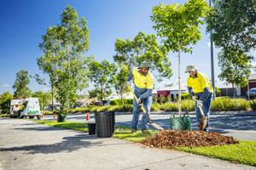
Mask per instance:
[[[27,99],[12,99],[10,105],[10,117],[29,117],[34,118],[37,116],[38,119],[42,116],[40,111],[40,105],[38,98],[27,98]]]

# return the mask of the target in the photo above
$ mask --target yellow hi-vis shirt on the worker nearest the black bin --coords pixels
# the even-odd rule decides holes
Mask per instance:
[[[132,71],[132,75],[134,77],[134,83],[137,86],[137,88],[153,89],[153,84],[154,84],[153,75],[150,72],[148,72],[146,76],[141,75],[139,70],[140,69],[135,68]]]

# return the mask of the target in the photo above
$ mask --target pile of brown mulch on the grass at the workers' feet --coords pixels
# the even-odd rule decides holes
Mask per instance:
[[[174,131],[163,130],[156,133],[152,138],[143,139],[142,143],[149,147],[174,149],[188,146],[214,146],[223,144],[239,144],[238,140],[219,133],[207,133],[203,131]]]

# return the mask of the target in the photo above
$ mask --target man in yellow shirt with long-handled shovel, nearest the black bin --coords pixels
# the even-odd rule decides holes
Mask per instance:
[[[138,127],[138,119],[140,116],[141,105],[147,112],[148,116],[150,115],[150,108],[152,105],[152,90],[154,85],[154,77],[148,71],[151,67],[150,63],[143,62],[138,68],[135,68],[131,71],[128,76],[127,85],[130,85],[131,79],[134,80],[135,90],[134,94],[137,96],[137,100],[133,98],[133,109],[132,109],[132,120],[131,120],[131,133],[136,133]],[[142,119],[142,131],[143,133],[148,132],[149,122],[145,114],[143,114]]]

